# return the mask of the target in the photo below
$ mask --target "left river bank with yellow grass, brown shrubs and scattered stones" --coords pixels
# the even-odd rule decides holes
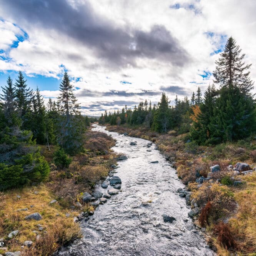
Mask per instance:
[[[105,179],[116,155],[110,150],[115,141],[105,133],[86,131],[84,152],[72,156],[68,167],[57,168],[56,146],[41,145],[41,153],[51,172],[44,183],[0,193],[0,255],[52,255],[58,248],[81,238],[76,222],[86,221],[94,207],[83,200],[96,183]],[[81,216],[81,213],[83,213]],[[34,214],[35,218],[27,219]],[[12,254],[16,252],[16,254]]]

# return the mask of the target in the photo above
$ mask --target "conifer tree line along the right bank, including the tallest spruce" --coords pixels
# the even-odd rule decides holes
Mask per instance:
[[[158,132],[190,131],[192,140],[205,145],[248,137],[256,132],[256,106],[255,95],[251,93],[254,83],[249,77],[251,64],[246,65],[244,57],[230,37],[216,61],[214,83],[203,96],[198,87],[190,100],[187,96],[182,100],[176,96],[170,106],[168,96],[162,93],[158,104],[145,100],[133,110],[125,106],[121,111],[105,111],[99,123],[144,125]]]

